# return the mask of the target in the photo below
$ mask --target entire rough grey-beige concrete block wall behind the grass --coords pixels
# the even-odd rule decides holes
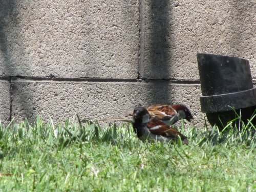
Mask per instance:
[[[249,59],[253,1],[0,1],[0,118],[99,119],[183,103],[202,127],[197,52]]]

